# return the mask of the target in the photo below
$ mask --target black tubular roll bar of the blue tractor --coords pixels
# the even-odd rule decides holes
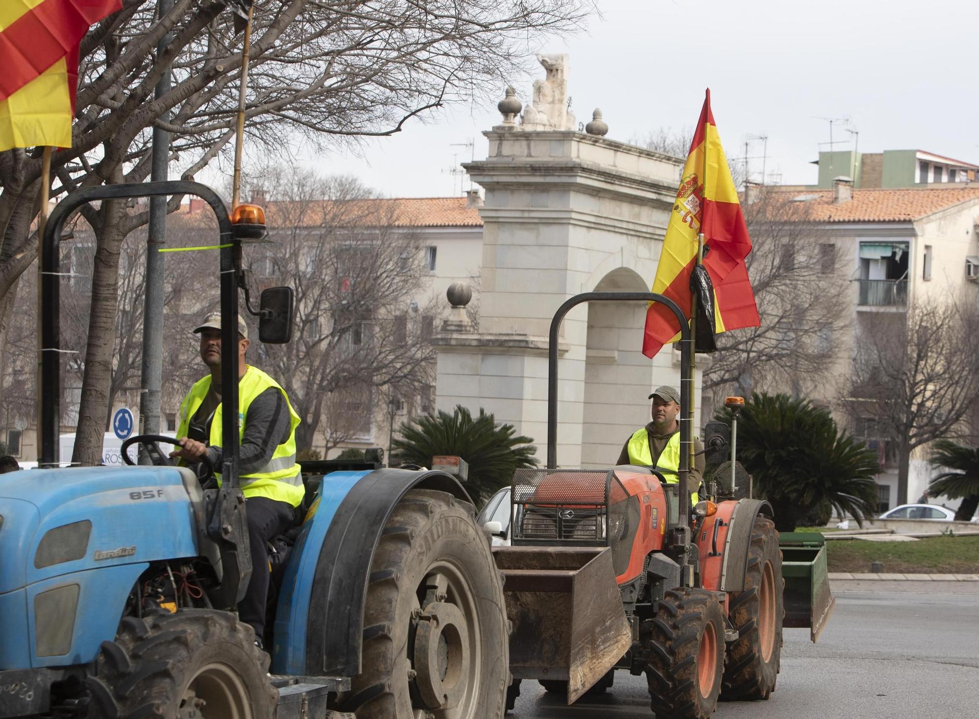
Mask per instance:
[[[231,219],[224,201],[210,187],[199,182],[169,180],[139,182],[101,187],[85,187],[70,192],[48,217],[41,238],[41,337],[38,350],[39,377],[37,391],[41,398],[40,462],[41,466],[57,466],[59,461],[58,434],[61,429],[61,271],[59,249],[62,228],[70,214],[92,200],[112,200],[160,195],[196,195],[210,205],[217,218],[220,245],[232,245]],[[222,247],[220,258],[221,315],[233,317],[221,323],[221,346],[238,346],[238,285],[235,276],[234,247]],[[238,376],[238,353],[221,353],[221,375]],[[228,407],[238,407],[238,383],[225,382],[222,400]],[[238,484],[238,412],[223,413],[221,443],[224,461],[220,472],[228,487]]]

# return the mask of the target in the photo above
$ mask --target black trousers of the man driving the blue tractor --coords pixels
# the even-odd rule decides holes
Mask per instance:
[[[268,597],[268,541],[293,526],[296,508],[288,502],[267,497],[245,500],[249,547],[252,550],[252,580],[245,599],[238,604],[238,617],[255,629],[256,639],[265,633],[265,600]]]

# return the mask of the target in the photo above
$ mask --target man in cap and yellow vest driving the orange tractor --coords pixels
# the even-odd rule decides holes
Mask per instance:
[[[679,469],[679,393],[673,387],[657,387],[649,396],[653,401],[653,420],[640,427],[623,445],[618,464],[658,466],[676,472]],[[700,440],[693,440],[694,452],[704,448]],[[664,474],[668,484],[679,481],[676,474]],[[698,454],[690,468],[689,487],[696,490],[704,476],[704,455]],[[696,496],[696,493],[694,493]],[[696,502],[696,500],[694,500]]]

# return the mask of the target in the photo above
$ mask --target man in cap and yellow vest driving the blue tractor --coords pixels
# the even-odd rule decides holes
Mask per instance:
[[[211,312],[194,329],[201,335],[201,359],[210,374],[191,387],[180,406],[177,438],[181,449],[170,456],[201,461],[205,455],[219,470],[221,449],[221,314]],[[268,540],[293,525],[296,507],[303,502],[303,477],[296,463],[296,427],[299,415],[286,391],[263,371],[245,361],[248,327],[238,315],[238,417],[240,451],[238,468],[249,546],[252,579],[245,599],[238,605],[241,620],[255,629],[261,646],[265,630],[268,594]]]

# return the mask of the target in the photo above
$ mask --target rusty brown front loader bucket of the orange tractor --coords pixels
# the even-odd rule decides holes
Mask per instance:
[[[568,682],[571,704],[629,650],[629,620],[607,547],[494,547],[515,679]]]

